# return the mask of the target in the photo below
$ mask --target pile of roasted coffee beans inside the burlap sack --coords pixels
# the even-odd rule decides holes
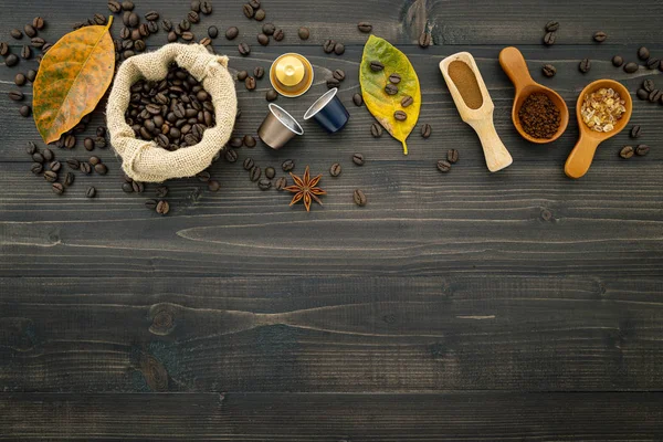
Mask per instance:
[[[204,130],[215,124],[210,94],[176,64],[162,81],[139,80],[131,86],[125,118],[136,137],[168,150],[200,143]]]

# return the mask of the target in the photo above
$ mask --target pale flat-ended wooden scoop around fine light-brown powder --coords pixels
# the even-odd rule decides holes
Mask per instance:
[[[473,109],[467,106],[455,83],[449,75],[449,65],[456,61],[465,63],[474,73],[481,95],[483,96],[483,102],[478,108]],[[440,62],[440,71],[442,72],[442,76],[444,76],[446,86],[449,86],[449,91],[459,109],[459,114],[461,114],[461,118],[472,126],[481,139],[488,170],[496,172],[497,170],[508,167],[513,162],[513,158],[508,150],[506,150],[506,147],[502,144],[502,140],[495,130],[495,125],[493,124],[493,110],[495,109],[495,105],[491,99],[491,95],[488,95],[488,90],[486,88],[472,54],[469,52],[459,52],[457,54],[448,56]]]

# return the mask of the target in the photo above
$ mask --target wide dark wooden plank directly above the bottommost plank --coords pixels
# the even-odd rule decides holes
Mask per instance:
[[[661,390],[661,277],[3,278],[6,391]]]

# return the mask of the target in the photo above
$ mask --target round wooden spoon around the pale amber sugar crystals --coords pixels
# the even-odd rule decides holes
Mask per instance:
[[[592,130],[582,120],[581,112],[585,95],[602,87],[612,88],[625,102],[624,107],[627,108],[627,112],[624,112],[621,119],[617,122],[614,129],[610,131]],[[622,129],[629,124],[632,112],[633,101],[631,99],[629,91],[621,83],[618,83],[613,80],[597,80],[596,82],[588,84],[580,93],[578,102],[576,103],[576,115],[578,117],[578,126],[580,127],[580,138],[578,139],[578,144],[576,144],[576,147],[573,147],[573,150],[571,150],[571,154],[567,158],[567,162],[564,166],[564,172],[567,175],[567,177],[578,179],[585,176],[591,166],[597,147],[599,147],[602,141],[622,131]]]

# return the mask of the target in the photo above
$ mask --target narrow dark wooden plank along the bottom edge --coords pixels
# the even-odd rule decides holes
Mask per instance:
[[[654,441],[661,393],[0,394],[3,440]]]

